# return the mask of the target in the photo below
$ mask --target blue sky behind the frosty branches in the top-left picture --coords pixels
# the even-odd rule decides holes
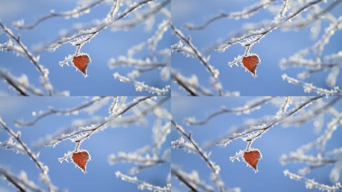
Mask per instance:
[[[41,22],[38,27],[32,30],[15,30],[11,27],[13,21],[24,18],[26,24],[33,23],[36,19],[49,13],[51,9],[55,12],[72,10],[76,5],[75,0],[0,0],[0,19],[7,27],[10,27],[14,34],[20,34],[21,41],[28,48],[34,47],[38,43],[49,43],[59,36],[62,29],[73,28],[76,23],[89,23],[95,19],[102,19],[110,10],[110,4],[101,3],[91,9],[90,13],[83,14],[79,18],[64,19],[62,17],[51,18]],[[170,5],[167,7],[170,9]],[[125,7],[121,7],[123,11]],[[118,72],[126,75],[132,70],[130,67],[120,67],[109,69],[108,59],[118,58],[119,55],[126,55],[127,49],[131,46],[146,41],[154,34],[157,24],[165,17],[157,14],[153,29],[149,32],[144,30],[144,24],[140,24],[131,30],[111,31],[102,30],[89,43],[86,43],[81,51],[90,55],[91,64],[87,68],[88,77],[84,78],[79,71],[70,66],[60,67],[58,61],[64,60],[65,56],[74,53],[75,48],[70,44],[64,44],[54,52],[44,51],[40,54],[40,63],[49,69],[49,78],[55,90],[69,90],[70,95],[149,95],[148,92],[136,92],[133,85],[120,82],[114,79],[113,73]],[[170,32],[166,31],[163,39],[157,45],[158,49],[164,49],[170,45]],[[5,34],[0,34],[0,43],[8,40]],[[143,58],[148,52],[142,51],[136,54],[135,58]],[[19,76],[27,74],[29,81],[38,86],[39,73],[33,64],[25,57],[17,57],[10,52],[0,52],[1,68],[9,69],[10,72]],[[162,88],[169,84],[169,81],[160,80],[158,70],[147,72],[137,78],[146,84]],[[16,93],[8,89],[6,83],[0,83],[1,95],[15,95]]]

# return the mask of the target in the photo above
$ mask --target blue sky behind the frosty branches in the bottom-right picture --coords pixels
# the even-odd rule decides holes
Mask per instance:
[[[202,145],[215,138],[221,138],[225,133],[229,132],[230,127],[242,125],[243,120],[247,118],[272,115],[276,113],[278,108],[268,102],[262,105],[261,109],[254,110],[250,114],[226,113],[212,118],[207,124],[201,126],[186,126],[183,123],[185,117],[194,116],[197,120],[200,120],[209,113],[221,108],[221,106],[225,106],[227,109],[243,106],[247,100],[252,98],[254,97],[172,97],[172,117],[183,126],[186,132],[191,131],[192,138],[199,145]],[[336,103],[335,108],[338,111],[342,108],[340,100]],[[331,116],[325,115],[323,129],[326,128],[326,123],[330,120]],[[326,151],[341,147],[341,134],[342,129],[338,126],[332,138],[327,142]],[[220,166],[220,176],[225,185],[228,187],[239,186],[241,191],[318,191],[318,189],[306,189],[303,182],[291,180],[284,176],[282,172],[284,169],[296,173],[299,168],[305,166],[303,163],[290,163],[282,166],[279,159],[281,154],[295,151],[299,146],[315,140],[319,135],[313,133],[313,121],[300,126],[283,127],[282,125],[276,125],[270,128],[252,144],[252,147],[258,148],[262,154],[262,159],[257,164],[257,173],[254,173],[253,169],[247,167],[243,161],[235,160],[231,162],[229,160],[229,156],[233,156],[239,149],[245,148],[246,143],[242,139],[235,139],[226,147],[216,146],[211,148],[209,150],[211,152],[210,159]],[[180,134],[173,128],[171,139],[176,140],[179,137]],[[313,152],[315,151],[313,150]],[[182,149],[172,149],[171,153],[172,164],[178,165],[185,172],[196,170],[201,180],[211,183],[210,169],[199,155],[185,152]],[[317,182],[331,184],[328,177],[331,168],[332,166],[319,168],[306,176],[315,178]],[[185,186],[179,185],[178,180],[174,177],[172,177],[172,188],[174,191],[185,191]]]

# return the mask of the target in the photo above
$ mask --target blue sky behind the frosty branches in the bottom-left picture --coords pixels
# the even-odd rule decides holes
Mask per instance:
[[[131,97],[128,99],[130,100]],[[89,115],[85,112],[69,116],[50,115],[42,118],[32,127],[23,128],[14,127],[14,120],[31,120],[33,119],[32,111],[38,113],[39,110],[45,110],[48,106],[68,108],[77,106],[85,100],[88,99],[84,97],[0,97],[0,116],[14,131],[20,130],[21,139],[31,147],[39,138],[70,125],[74,119],[89,118]],[[108,115],[108,105],[109,103],[92,116]],[[163,107],[169,110],[170,102],[164,103]],[[64,161],[62,164],[58,161],[58,157],[62,157],[65,152],[74,148],[74,143],[69,140],[60,142],[54,148],[41,148],[39,159],[48,165],[53,184],[61,189],[68,189],[69,191],[141,191],[137,189],[136,184],[122,181],[120,178],[116,178],[114,174],[117,170],[126,173],[134,166],[132,163],[109,165],[107,158],[110,153],[132,152],[152,143],[153,115],[149,115],[147,120],[146,126],[133,124],[128,127],[109,127],[86,139],[81,144],[81,148],[89,151],[91,161],[87,163],[87,173],[85,174],[70,161],[69,163]],[[0,140],[4,141],[7,138],[7,132],[1,128]],[[168,137],[162,145],[161,151],[169,147],[169,139]],[[39,171],[27,155],[16,154],[11,150],[1,148],[0,164],[7,166],[15,174],[18,174],[20,170],[25,170],[29,179],[39,183]],[[152,184],[165,186],[168,173],[169,163],[162,163],[159,166],[142,170],[137,176],[139,179]],[[0,179],[0,191],[5,191],[4,189],[14,191],[12,186],[7,185],[6,180]]]

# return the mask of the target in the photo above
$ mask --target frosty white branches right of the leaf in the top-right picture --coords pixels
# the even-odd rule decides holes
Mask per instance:
[[[341,1],[334,1],[326,9],[332,9],[339,2]],[[323,11],[323,13],[326,13],[326,11]],[[338,31],[342,28],[342,16],[334,18],[331,14],[327,14],[326,17],[329,18],[328,20],[330,24],[325,28],[325,31],[321,38],[317,40],[312,46],[299,50],[288,59],[281,59],[279,65],[282,69],[288,67],[305,68],[305,71],[297,74],[298,79],[304,79],[314,73],[330,70],[329,74],[326,76],[325,81],[329,87],[333,88],[331,90],[322,87],[316,87],[313,86],[312,83],[306,83],[296,78],[288,77],[287,74],[283,74],[282,78],[284,80],[287,80],[289,83],[303,86],[305,92],[315,91],[318,94],[326,95],[341,94],[338,86],[336,86],[336,78],[338,76],[340,68],[342,67],[342,64],[340,63],[341,56],[339,53],[331,53],[323,56],[322,52],[324,50],[324,46],[326,46],[326,44],[329,42],[329,39],[335,33],[335,31]],[[315,56],[310,56],[310,53],[313,53]]]

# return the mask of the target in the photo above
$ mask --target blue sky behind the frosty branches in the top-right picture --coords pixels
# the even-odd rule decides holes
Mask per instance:
[[[191,36],[192,43],[199,49],[205,50],[213,45],[217,40],[224,39],[233,32],[239,31],[245,23],[259,23],[265,19],[272,19],[272,14],[265,9],[258,11],[248,19],[220,19],[212,22],[204,30],[186,30],[182,27],[185,23],[194,23],[199,25],[204,23],[208,18],[217,15],[219,12],[240,11],[243,7],[250,6],[258,1],[256,0],[172,0],[172,24],[182,30],[185,36]],[[332,10],[333,15],[341,14],[342,4],[338,4]],[[323,22],[319,36],[323,33],[327,23]],[[319,37],[318,36],[318,37]],[[331,37],[323,55],[338,52],[341,48],[340,41],[342,34],[336,31]],[[172,35],[172,44],[176,43],[179,38]],[[256,43],[251,52],[257,53],[261,59],[261,63],[257,66],[254,78],[249,72],[245,72],[244,68],[233,66],[230,68],[228,62],[232,61],[238,54],[243,54],[244,47],[235,44],[229,47],[225,52],[212,52],[209,63],[219,69],[219,80],[223,87],[229,91],[240,91],[242,96],[256,95],[312,95],[315,93],[304,93],[303,88],[299,85],[289,84],[283,81],[281,74],[287,73],[289,76],[296,77],[302,68],[288,68],[281,70],[279,61],[281,58],[288,58],[300,49],[306,48],[314,44],[315,40],[310,39],[310,26],[298,31],[282,31],[281,29],[273,30],[264,38]],[[203,52],[203,51],[202,51]],[[208,72],[198,59],[185,57],[179,53],[172,53],[172,68],[177,69],[184,76],[189,77],[196,74],[198,81],[204,87],[210,87],[208,80]],[[305,79],[306,82],[313,82],[314,85],[330,89],[325,78],[328,71],[314,74]],[[342,86],[342,75],[339,74],[336,85]],[[185,95],[186,93],[178,89],[178,85],[174,82],[171,84],[173,95]]]

